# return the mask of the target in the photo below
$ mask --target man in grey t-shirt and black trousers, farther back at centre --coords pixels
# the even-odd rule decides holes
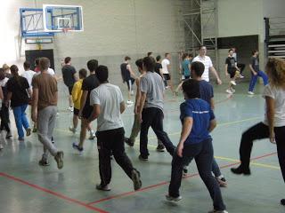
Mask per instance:
[[[163,98],[164,84],[163,80],[154,72],[155,61],[152,57],[142,59],[142,68],[146,74],[141,77],[141,100],[138,108],[138,118],[141,124],[140,135],[140,156],[141,161],[148,161],[148,131],[150,127],[155,132],[157,138],[167,148],[171,155],[175,152],[175,146],[172,144],[163,130]]]

